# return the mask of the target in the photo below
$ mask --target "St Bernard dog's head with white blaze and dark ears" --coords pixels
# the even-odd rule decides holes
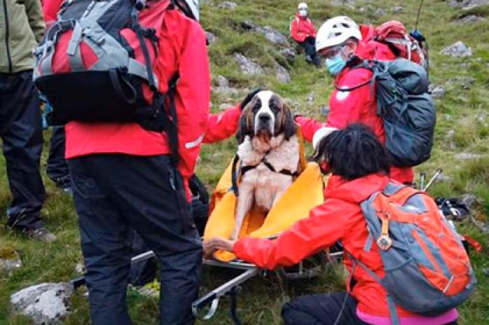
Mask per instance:
[[[243,109],[238,142],[245,141],[245,136],[258,137],[269,142],[272,137],[283,134],[289,140],[295,135],[295,123],[289,107],[276,93],[260,91]]]

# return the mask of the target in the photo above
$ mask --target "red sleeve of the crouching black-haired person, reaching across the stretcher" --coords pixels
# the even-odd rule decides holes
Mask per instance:
[[[342,239],[349,218],[347,208],[338,199],[328,199],[277,239],[246,237],[236,241],[233,252],[238,258],[267,269],[298,264]]]

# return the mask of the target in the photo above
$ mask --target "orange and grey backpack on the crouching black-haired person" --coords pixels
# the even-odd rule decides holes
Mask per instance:
[[[349,256],[353,268],[361,266],[386,289],[392,324],[399,324],[395,305],[435,316],[468,298],[476,283],[469,257],[460,235],[426,192],[388,183],[360,206],[369,232],[364,250],[377,244],[384,278]]]

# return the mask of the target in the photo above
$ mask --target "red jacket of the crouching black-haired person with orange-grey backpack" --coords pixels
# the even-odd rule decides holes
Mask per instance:
[[[251,237],[240,239],[233,248],[235,255],[260,267],[274,269],[276,266],[297,264],[305,257],[341,241],[344,250],[382,278],[384,266],[377,245],[372,245],[369,252],[363,250],[368,232],[360,202],[373,192],[382,190],[387,183],[387,176],[380,174],[354,181],[344,181],[333,176],[325,190],[325,202],[312,209],[309,218],[296,222],[275,240]],[[347,256],[344,256],[344,264],[351,273],[352,264]],[[387,317],[386,292],[381,285],[360,267],[354,270],[352,276],[357,282],[351,293],[358,300],[360,311]],[[402,308],[397,310],[400,317],[416,316]]]

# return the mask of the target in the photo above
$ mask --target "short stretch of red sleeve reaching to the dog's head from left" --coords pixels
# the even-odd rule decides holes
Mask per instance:
[[[240,116],[240,105],[226,109],[226,112],[220,114],[209,114],[203,143],[218,142],[235,135],[240,123]]]

